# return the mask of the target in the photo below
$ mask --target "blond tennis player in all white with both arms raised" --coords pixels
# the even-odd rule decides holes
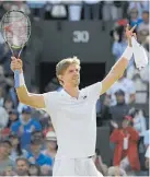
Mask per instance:
[[[46,110],[56,131],[58,151],[54,165],[54,176],[102,176],[93,163],[96,142],[95,105],[124,73],[132,56],[131,36],[135,26],[126,27],[128,46],[102,82],[79,90],[80,60],[76,57],[64,59],[56,66],[56,75],[62,85],[60,92],[44,94],[28,93],[22,69],[22,60],[12,57],[19,101],[25,105]],[[48,74],[48,73],[47,73]]]

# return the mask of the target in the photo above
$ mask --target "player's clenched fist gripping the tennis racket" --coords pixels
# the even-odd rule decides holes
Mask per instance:
[[[11,70],[14,72],[14,70],[20,70],[22,72],[23,63],[21,59],[16,59],[15,57],[11,57]]]

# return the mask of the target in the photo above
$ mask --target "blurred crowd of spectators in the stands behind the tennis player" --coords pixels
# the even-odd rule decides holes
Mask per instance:
[[[112,54],[119,59],[127,40],[125,26],[137,24],[138,42],[149,56],[149,1],[101,1],[101,0],[43,0],[0,1],[0,19],[8,10],[21,10],[31,21],[39,20],[100,20],[113,21],[109,35]],[[0,33],[0,175],[2,176],[51,176],[57,139],[50,117],[19,103],[10,70],[11,52]],[[53,79],[45,91],[59,90]],[[32,85],[31,92],[39,93]],[[136,69],[134,58],[118,82],[97,102],[97,115],[111,129],[109,142],[112,166],[108,167],[95,151],[93,161],[105,176],[140,175],[149,170],[149,115],[142,106],[149,98],[149,66]]]

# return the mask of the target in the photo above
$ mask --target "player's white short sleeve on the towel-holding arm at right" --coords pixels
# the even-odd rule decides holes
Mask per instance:
[[[102,82],[96,82],[95,84],[92,84],[88,86],[86,88],[88,88],[89,95],[93,99],[97,101],[100,98],[100,94],[102,91]]]

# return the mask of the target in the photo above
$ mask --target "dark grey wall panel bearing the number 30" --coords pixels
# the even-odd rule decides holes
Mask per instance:
[[[109,61],[113,64],[112,25],[111,22],[104,25],[100,21],[42,21],[34,22],[33,31],[42,31],[43,61],[57,62],[78,56],[82,62]]]

